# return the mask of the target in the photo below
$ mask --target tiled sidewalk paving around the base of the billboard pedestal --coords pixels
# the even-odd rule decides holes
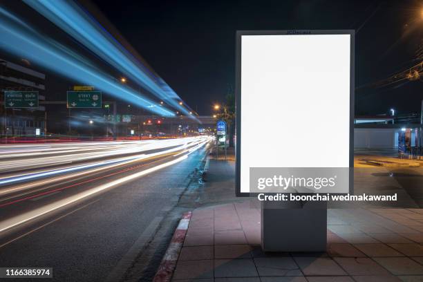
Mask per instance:
[[[172,281],[423,281],[423,209],[329,209],[326,253],[263,253],[260,230],[249,201],[194,210]]]

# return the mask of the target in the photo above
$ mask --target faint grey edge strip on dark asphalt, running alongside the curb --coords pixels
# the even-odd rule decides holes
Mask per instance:
[[[129,267],[131,267],[138,254],[140,254],[140,252],[144,249],[144,246],[147,245],[147,243],[149,243],[150,239],[153,237],[153,234],[158,229],[158,226],[162,220],[162,216],[156,216],[156,218],[151,221],[149,226],[144,230],[144,232],[142,232],[140,238],[135,241],[129,251],[126,252],[122,259],[120,259],[118,265],[116,265],[109,273],[109,276],[106,278],[106,282],[122,280],[124,274],[129,270]]]

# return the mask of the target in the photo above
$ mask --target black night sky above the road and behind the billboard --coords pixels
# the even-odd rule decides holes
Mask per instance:
[[[79,0],[82,6],[87,1],[90,0]],[[12,2],[17,3],[6,1]],[[357,30],[356,115],[389,113],[391,108],[400,114],[420,113],[422,81],[382,88],[373,84],[422,62],[422,58],[416,57],[423,43],[422,1],[91,0],[90,3],[200,115],[210,114],[212,105],[223,102],[234,87],[236,30],[291,29]],[[60,35],[60,30],[40,19],[28,6],[22,3],[16,6],[18,15],[48,35],[65,43],[73,41],[64,32]],[[47,23],[50,28],[45,28]],[[48,86],[52,92],[49,99],[57,99],[55,93],[65,93],[72,85],[67,82],[63,86],[54,74],[48,77],[53,77],[49,80],[53,84]]]

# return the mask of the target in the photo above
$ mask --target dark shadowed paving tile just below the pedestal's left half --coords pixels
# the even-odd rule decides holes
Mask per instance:
[[[290,256],[255,258],[254,263],[260,276],[303,276]]]

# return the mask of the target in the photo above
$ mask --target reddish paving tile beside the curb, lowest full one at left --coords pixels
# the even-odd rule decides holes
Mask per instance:
[[[178,261],[173,279],[213,278],[213,260]]]

